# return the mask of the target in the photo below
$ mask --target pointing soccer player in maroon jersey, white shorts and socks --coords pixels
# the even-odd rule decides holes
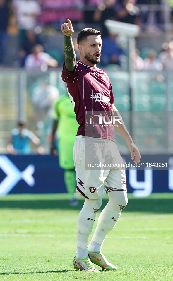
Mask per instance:
[[[88,157],[88,154],[93,161],[102,158],[104,163],[122,162],[117,146],[113,142],[113,127],[95,126],[93,136],[90,136],[90,131],[87,130],[88,123],[85,120],[88,112],[98,112],[97,116],[101,116],[102,112],[112,112],[111,114],[119,116],[114,106],[110,80],[103,70],[96,67],[96,64],[100,62],[102,49],[101,33],[91,28],[85,28],[79,32],[77,40],[80,61],[76,62],[71,38],[74,31],[69,19],[67,23],[61,25],[61,30],[64,33],[65,53],[62,79],[67,83],[68,94],[79,123],[73,149],[77,180],[75,196],[85,197],[77,222],[77,253],[73,265],[74,268],[80,270],[98,271],[94,263],[102,269],[116,270],[116,266],[109,263],[103,256],[101,247],[128,202],[125,171],[112,166],[108,170],[103,170],[102,167],[100,170],[85,169],[85,157]],[[122,120],[115,121],[115,127],[126,140],[134,163],[139,163],[139,150],[134,145]],[[87,250],[88,237],[93,229],[97,211],[102,204],[102,197],[106,193],[104,181],[107,183],[109,201],[98,218],[95,233]]]

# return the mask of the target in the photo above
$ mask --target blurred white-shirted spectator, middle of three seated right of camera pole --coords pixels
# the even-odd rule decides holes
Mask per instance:
[[[157,70],[161,71],[163,69],[163,65],[160,59],[156,58],[156,52],[150,51],[147,57],[144,59],[144,70]]]

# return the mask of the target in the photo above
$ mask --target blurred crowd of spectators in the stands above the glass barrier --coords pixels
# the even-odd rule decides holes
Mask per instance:
[[[126,67],[124,38],[109,34],[104,25],[112,19],[141,28],[136,70],[173,69],[172,7],[171,0],[0,0],[0,65],[42,71],[61,67],[60,27],[70,18],[76,31],[91,27],[102,32],[103,66]]]

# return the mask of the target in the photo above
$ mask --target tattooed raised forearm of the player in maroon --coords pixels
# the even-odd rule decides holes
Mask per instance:
[[[73,41],[70,36],[64,35],[64,54],[65,66],[68,71],[73,72],[76,66],[76,54],[74,51]]]

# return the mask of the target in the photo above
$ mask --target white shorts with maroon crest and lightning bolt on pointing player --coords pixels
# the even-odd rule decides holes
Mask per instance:
[[[88,169],[85,153],[87,161],[89,154],[91,163],[95,163],[97,160],[105,165],[111,164],[111,167]],[[73,158],[77,181],[75,196],[83,196],[88,199],[102,198],[106,194],[105,181],[105,187],[127,190],[125,170],[116,167],[116,164],[123,163],[123,160],[117,145],[112,140],[86,136],[77,138],[74,143]]]

